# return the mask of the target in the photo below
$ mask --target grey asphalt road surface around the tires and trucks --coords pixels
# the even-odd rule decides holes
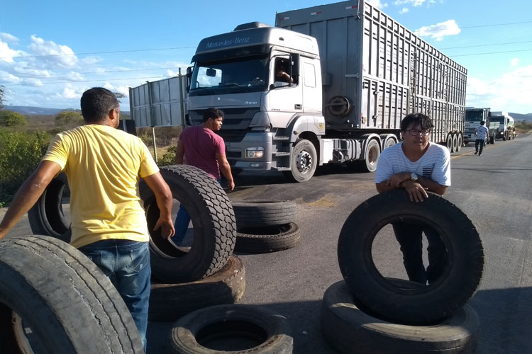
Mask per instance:
[[[485,265],[480,289],[469,304],[480,317],[477,353],[532,353],[532,136],[497,140],[473,154],[472,144],[452,154],[452,186],[445,198],[477,227]],[[293,249],[266,254],[237,253],[246,268],[242,304],[265,307],[287,317],[294,353],[336,353],[323,340],[323,292],[342,280],[336,246],[345,219],[376,194],[372,173],[321,168],[311,181],[287,183],[280,173],[242,173],[232,200],[282,199],[297,204],[301,241]],[[3,213],[0,212],[0,216]],[[11,234],[28,234],[27,219]],[[379,236],[380,233],[379,233]],[[388,231],[373,257],[381,273],[406,278],[399,246]],[[148,353],[162,353],[171,324],[150,322]]]

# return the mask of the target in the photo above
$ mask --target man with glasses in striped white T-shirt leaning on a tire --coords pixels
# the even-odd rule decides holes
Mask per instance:
[[[428,141],[434,127],[431,118],[411,113],[401,121],[399,144],[382,152],[375,171],[379,193],[404,188],[412,202],[428,198],[427,190],[444,195],[450,186],[450,153],[446,147]],[[392,223],[401,246],[403,263],[409,280],[426,285],[436,281],[445,268],[447,251],[439,234],[431,227],[414,222]],[[428,240],[428,261],[423,265],[422,234]]]

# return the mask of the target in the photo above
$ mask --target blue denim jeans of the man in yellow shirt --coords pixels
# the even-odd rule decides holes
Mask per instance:
[[[133,316],[146,351],[152,273],[148,242],[106,239],[80,247],[79,251],[113,281]]]

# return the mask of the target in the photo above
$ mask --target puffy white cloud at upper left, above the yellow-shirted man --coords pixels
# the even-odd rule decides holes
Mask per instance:
[[[51,40],[45,41],[35,35],[31,36],[31,45],[29,45],[33,55],[39,56],[39,62],[52,67],[72,68],[77,67],[78,59],[74,51],[67,45],[58,45]]]

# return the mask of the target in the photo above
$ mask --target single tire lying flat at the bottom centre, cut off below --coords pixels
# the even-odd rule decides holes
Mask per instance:
[[[202,343],[231,340],[231,335],[256,343],[255,346],[227,350],[212,343],[207,348]],[[234,339],[234,338],[233,338]],[[244,346],[245,340],[232,341]],[[284,316],[249,305],[220,305],[199,309],[179,319],[170,332],[170,353],[292,353],[293,338]],[[215,348],[212,348],[215,347]]]

